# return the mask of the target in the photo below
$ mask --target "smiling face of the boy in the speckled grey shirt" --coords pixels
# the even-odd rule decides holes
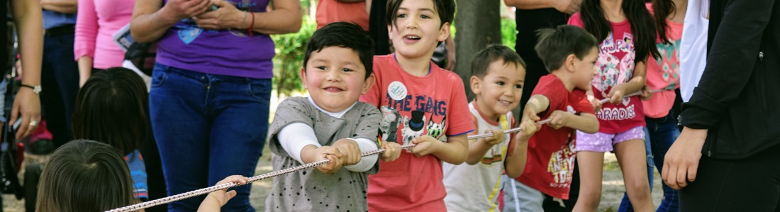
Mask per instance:
[[[312,51],[300,74],[314,104],[330,112],[349,108],[374,85],[374,75],[366,79],[366,67],[350,48]]]

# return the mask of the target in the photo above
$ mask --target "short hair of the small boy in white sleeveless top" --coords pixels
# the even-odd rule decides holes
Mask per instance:
[[[477,52],[477,55],[471,60],[471,75],[480,79],[488,74],[488,67],[491,63],[502,60],[504,65],[514,64],[518,67],[526,68],[526,62],[517,52],[500,44],[492,44],[488,48]]]

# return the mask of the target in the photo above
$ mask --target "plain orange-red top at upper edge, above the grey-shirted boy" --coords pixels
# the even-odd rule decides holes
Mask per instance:
[[[339,2],[337,0],[320,0],[317,2],[317,30],[328,23],[345,21],[357,23],[368,31],[368,12],[366,2]]]

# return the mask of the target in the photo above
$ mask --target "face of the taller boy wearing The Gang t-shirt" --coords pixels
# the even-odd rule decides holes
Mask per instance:
[[[388,25],[388,35],[402,57],[430,58],[438,42],[449,36],[449,23],[441,25],[433,0],[404,0],[395,14],[395,24]]]

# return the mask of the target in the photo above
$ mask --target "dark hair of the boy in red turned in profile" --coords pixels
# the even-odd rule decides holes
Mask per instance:
[[[591,49],[598,47],[596,38],[577,26],[561,25],[541,29],[537,30],[537,36],[539,42],[534,50],[548,72],[561,68],[569,55],[583,59]]]

